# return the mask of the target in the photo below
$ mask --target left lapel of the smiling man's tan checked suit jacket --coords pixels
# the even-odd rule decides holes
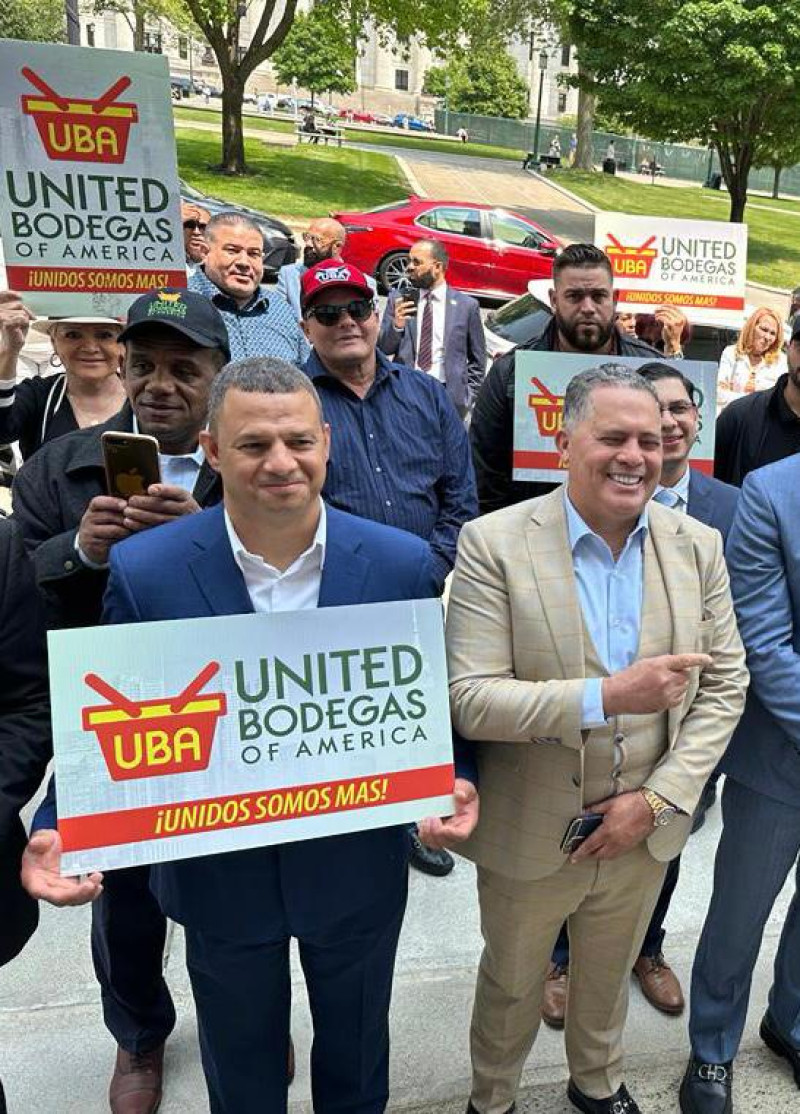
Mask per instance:
[[[547,496],[526,527],[530,575],[542,600],[556,656],[567,678],[586,675],[584,623],[569,551],[564,490]],[[565,576],[565,569],[572,575]]]

